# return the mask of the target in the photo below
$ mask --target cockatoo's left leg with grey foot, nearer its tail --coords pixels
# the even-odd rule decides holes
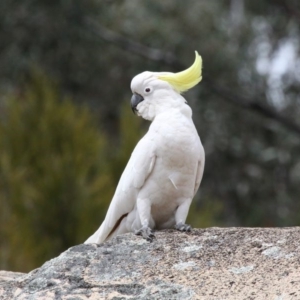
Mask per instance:
[[[149,227],[149,220],[151,217],[151,205],[149,199],[137,199],[137,213],[140,217],[142,228],[136,230],[135,234],[141,235],[147,241],[152,242],[155,235]]]

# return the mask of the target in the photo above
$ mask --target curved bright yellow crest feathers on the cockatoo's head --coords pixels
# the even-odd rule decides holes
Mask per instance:
[[[202,58],[195,51],[195,62],[186,70],[178,73],[164,72],[158,75],[158,79],[168,82],[178,93],[183,93],[202,79]]]

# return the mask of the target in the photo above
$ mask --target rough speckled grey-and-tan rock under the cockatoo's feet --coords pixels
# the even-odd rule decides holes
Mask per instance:
[[[0,299],[300,299],[300,228],[124,234],[0,272]]]

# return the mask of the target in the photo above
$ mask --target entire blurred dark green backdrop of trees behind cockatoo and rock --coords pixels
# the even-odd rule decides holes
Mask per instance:
[[[138,73],[203,57],[185,94],[206,151],[193,227],[300,224],[298,0],[2,0],[0,269],[29,271],[102,222],[149,123]]]

